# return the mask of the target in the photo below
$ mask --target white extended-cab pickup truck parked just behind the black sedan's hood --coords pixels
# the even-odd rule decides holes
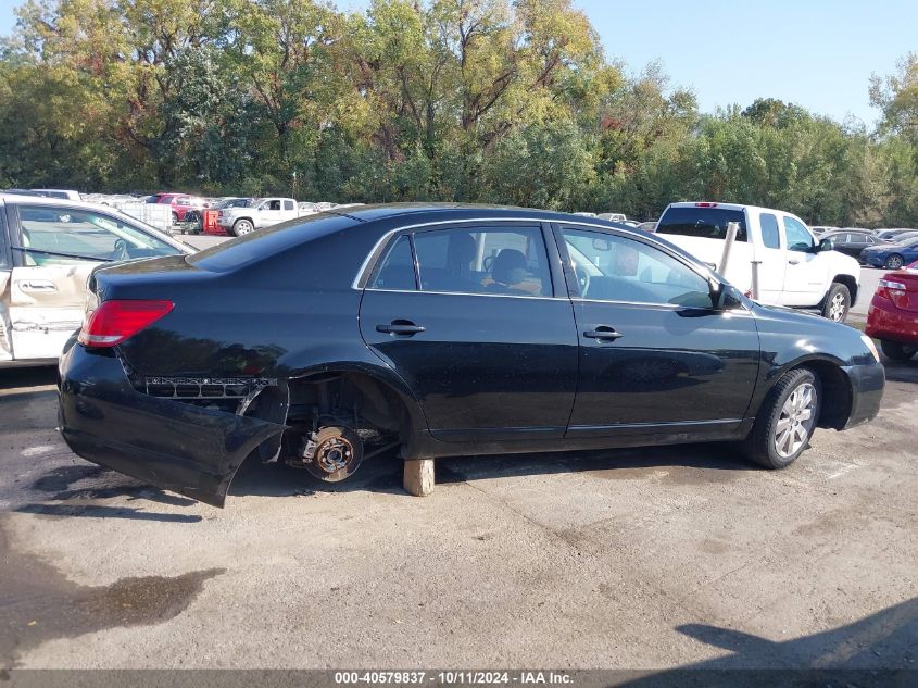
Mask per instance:
[[[726,271],[728,223],[739,223]],[[753,262],[758,262],[758,300],[801,309],[818,309],[843,322],[857,299],[860,266],[853,258],[819,241],[796,215],[733,203],[670,203],[656,233],[715,266],[733,286],[750,292]]]

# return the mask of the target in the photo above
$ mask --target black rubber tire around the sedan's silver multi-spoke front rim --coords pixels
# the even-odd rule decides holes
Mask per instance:
[[[784,404],[788,403],[791,395],[794,393],[794,390],[803,388],[805,385],[809,385],[815,395],[814,406],[810,410],[812,423],[806,428],[805,438],[800,447],[787,455],[782,455],[777,448],[779,441],[777,438],[778,423],[781,421]],[[783,468],[791,465],[809,447],[809,440],[813,438],[813,433],[819,421],[821,399],[822,389],[819,380],[812,372],[805,368],[796,368],[784,373],[781,379],[771,388],[771,391],[768,392],[768,396],[762,403],[762,408],[758,410],[755,424],[743,447],[746,456],[766,468]],[[793,440],[794,438],[791,439]]]

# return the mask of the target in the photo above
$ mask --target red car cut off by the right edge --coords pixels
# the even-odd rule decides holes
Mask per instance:
[[[908,361],[918,352],[918,261],[880,279],[865,332],[894,361]]]

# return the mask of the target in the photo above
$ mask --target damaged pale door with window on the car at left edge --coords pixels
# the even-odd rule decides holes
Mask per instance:
[[[177,253],[123,220],[85,208],[7,205],[13,268],[9,289],[16,360],[56,359],[83,323],[86,280],[101,262]]]

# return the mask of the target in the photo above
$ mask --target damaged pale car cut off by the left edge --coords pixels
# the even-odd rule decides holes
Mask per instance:
[[[0,195],[0,367],[56,361],[95,266],[191,251],[111,208]]]

